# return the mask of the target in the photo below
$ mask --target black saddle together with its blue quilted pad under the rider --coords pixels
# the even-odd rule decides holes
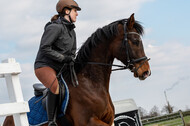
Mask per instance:
[[[59,81],[59,103],[58,103],[58,118],[63,117],[66,113],[69,103],[69,89],[63,77],[58,78]],[[49,91],[41,83],[33,84],[34,95],[29,101],[30,112],[27,113],[29,124],[37,126],[47,123],[48,117],[46,112],[46,96]]]

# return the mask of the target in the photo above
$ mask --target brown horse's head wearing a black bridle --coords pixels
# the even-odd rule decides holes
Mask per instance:
[[[148,58],[145,55],[141,35],[142,26],[135,21],[134,14],[118,24],[119,35],[113,42],[115,57],[126,65],[140,80],[150,76]]]

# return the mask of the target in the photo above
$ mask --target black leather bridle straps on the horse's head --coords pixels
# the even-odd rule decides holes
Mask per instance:
[[[129,48],[130,48],[130,45],[129,45],[129,42],[128,42],[128,39],[127,39],[127,35],[129,34],[136,34],[138,36],[140,36],[138,33],[136,32],[127,32],[127,22],[124,21],[123,22],[123,25],[124,25],[124,38],[123,38],[123,46],[126,46],[126,55],[127,55],[127,65],[125,66],[126,69],[128,69],[130,66],[134,67],[134,64],[135,63],[138,63],[138,62],[141,62],[141,61],[144,61],[142,62],[138,68],[134,68],[133,71],[138,73],[138,69],[146,62],[146,61],[149,61],[150,58],[147,58],[146,56],[144,57],[140,57],[138,59],[132,59],[129,55]]]

